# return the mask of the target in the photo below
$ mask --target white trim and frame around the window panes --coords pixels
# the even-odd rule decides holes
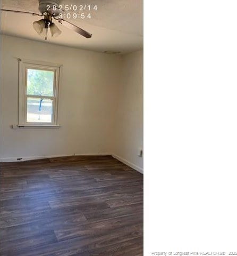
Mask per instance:
[[[53,99],[53,117],[51,123],[27,122],[27,68],[36,68],[54,71],[54,96],[42,98]],[[22,60],[19,59],[19,113],[18,126],[19,127],[60,127],[58,124],[58,98],[60,87],[60,74],[62,65],[44,61]],[[32,98],[39,98],[36,95],[30,95]]]

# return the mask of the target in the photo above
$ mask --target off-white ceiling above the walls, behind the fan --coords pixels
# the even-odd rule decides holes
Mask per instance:
[[[142,49],[143,0],[61,0],[61,4],[63,7],[67,4],[97,5],[98,10],[91,12],[91,19],[69,20],[91,33],[92,38],[84,38],[58,24],[63,33],[57,38],[49,38],[48,42],[92,51],[120,51],[122,54]],[[38,0],[2,0],[3,9],[39,13],[38,5]],[[32,22],[40,18],[2,12],[2,33],[44,41],[32,27]]]

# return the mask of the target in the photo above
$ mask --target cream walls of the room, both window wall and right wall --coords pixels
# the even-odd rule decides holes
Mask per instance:
[[[143,52],[124,56],[2,35],[0,160],[113,154],[143,170]],[[18,58],[61,63],[62,127],[19,128]]]

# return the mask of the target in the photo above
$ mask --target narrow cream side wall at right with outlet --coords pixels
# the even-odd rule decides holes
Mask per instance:
[[[114,156],[143,172],[143,51],[122,57],[121,85],[114,123]]]

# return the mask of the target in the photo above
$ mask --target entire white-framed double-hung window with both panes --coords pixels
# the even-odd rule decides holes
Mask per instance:
[[[23,61],[19,65],[19,126],[58,126],[60,65]]]

